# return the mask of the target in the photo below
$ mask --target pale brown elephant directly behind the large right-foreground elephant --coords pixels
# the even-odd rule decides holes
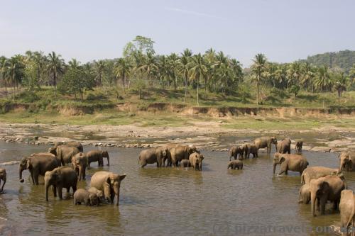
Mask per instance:
[[[339,169],[332,169],[328,167],[307,167],[302,173],[301,184],[310,184],[312,179],[319,179],[328,175],[339,176],[344,178],[342,172]]]

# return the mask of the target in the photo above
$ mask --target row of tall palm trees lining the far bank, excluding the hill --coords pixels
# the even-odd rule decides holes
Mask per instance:
[[[256,88],[256,103],[260,102],[260,87],[283,89],[295,97],[301,90],[310,92],[342,92],[351,87],[355,77],[355,64],[344,73],[341,69],[315,66],[308,62],[275,63],[265,55],[258,54],[250,68],[243,69],[241,63],[210,48],[206,52],[193,54],[186,49],[180,54],[156,55],[153,40],[137,36],[127,43],[123,56],[114,60],[95,60],[81,64],[75,59],[65,63],[61,55],[50,52],[26,52],[25,55],[0,57],[0,80],[8,96],[12,88],[12,99],[16,99],[18,86],[30,91],[40,86],[53,86],[57,92],[83,99],[85,90],[101,87],[107,91],[113,86],[133,89],[142,98],[143,91],[151,88],[184,89],[187,94],[197,94],[197,105],[201,89],[238,96],[241,88]]]

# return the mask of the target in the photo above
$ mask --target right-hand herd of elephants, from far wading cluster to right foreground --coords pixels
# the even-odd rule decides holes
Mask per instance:
[[[258,137],[251,144],[231,147],[229,152],[228,169],[243,169],[244,158],[258,157],[260,148],[267,148],[271,152],[271,145],[275,145],[276,152],[273,157],[273,174],[275,168],[280,164],[280,174],[300,172],[301,184],[298,193],[298,203],[311,203],[311,212],[316,216],[316,211],[322,215],[325,213],[326,203],[333,204],[334,210],[340,212],[341,227],[344,235],[355,235],[355,195],[354,191],[347,189],[346,181],[342,171],[355,171],[355,151],[344,151],[339,154],[339,168],[308,167],[309,163],[302,153],[302,141],[295,144],[295,154],[291,152],[291,140],[285,138],[280,142],[276,137]],[[234,160],[231,160],[234,157]]]

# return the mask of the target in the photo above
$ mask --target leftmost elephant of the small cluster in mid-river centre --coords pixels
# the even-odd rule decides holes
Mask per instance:
[[[138,164],[145,167],[147,164],[156,162],[157,167],[163,166],[163,159],[168,155],[169,150],[166,147],[151,147],[141,151],[138,157]]]

